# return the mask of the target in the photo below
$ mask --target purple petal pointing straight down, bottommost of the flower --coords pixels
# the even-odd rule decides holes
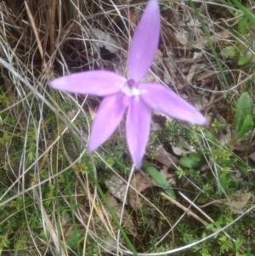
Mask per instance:
[[[150,135],[150,108],[139,96],[133,97],[130,102],[126,130],[128,149],[134,165],[139,168]]]

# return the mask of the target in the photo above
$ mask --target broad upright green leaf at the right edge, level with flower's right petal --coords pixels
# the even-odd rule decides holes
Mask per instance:
[[[237,133],[242,129],[246,116],[251,114],[252,101],[250,95],[247,92],[245,92],[241,94],[235,106],[235,131]]]

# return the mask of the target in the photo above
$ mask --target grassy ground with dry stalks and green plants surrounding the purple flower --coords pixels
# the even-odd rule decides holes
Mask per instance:
[[[159,4],[143,82],[171,88],[207,126],[152,111],[134,168],[126,118],[88,153],[102,97],[48,82],[94,70],[126,77],[147,2],[0,1],[2,255],[255,254],[254,3]]]

